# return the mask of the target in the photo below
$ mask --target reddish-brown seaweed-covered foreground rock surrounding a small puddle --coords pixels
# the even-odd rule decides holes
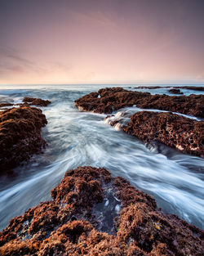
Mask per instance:
[[[97,229],[93,210],[106,195],[122,205],[114,234]],[[104,168],[68,171],[51,196],[11,219],[0,233],[1,255],[203,255],[202,230],[162,213],[152,196]]]

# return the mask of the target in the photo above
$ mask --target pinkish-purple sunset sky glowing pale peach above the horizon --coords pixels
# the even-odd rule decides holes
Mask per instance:
[[[0,84],[204,83],[204,0],[0,0]]]

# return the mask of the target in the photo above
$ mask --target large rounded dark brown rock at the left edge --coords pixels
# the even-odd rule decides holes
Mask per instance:
[[[37,108],[27,106],[0,112],[1,172],[40,152],[46,144],[41,137],[41,128],[46,124],[45,115]]]

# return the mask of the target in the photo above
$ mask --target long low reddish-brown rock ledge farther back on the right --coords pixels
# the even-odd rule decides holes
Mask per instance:
[[[111,114],[126,106],[157,109],[204,117],[204,95],[168,96],[151,95],[149,92],[132,92],[123,88],[104,88],[91,92],[75,101],[79,110]]]

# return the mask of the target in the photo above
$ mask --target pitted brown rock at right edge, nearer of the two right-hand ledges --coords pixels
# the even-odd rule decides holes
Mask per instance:
[[[204,157],[204,121],[170,112],[141,111],[131,116],[131,122],[123,130],[142,141],[159,141],[184,153]]]

